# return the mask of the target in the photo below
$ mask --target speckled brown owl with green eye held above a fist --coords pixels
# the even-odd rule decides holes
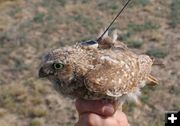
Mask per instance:
[[[146,81],[157,83],[150,75],[152,64],[149,56],[135,54],[114,33],[98,42],[81,42],[46,53],[39,77],[50,80],[56,91],[67,97],[123,104],[127,99],[138,101]]]

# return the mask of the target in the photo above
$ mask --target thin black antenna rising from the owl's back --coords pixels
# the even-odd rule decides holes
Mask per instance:
[[[97,42],[101,41],[102,37],[106,34],[106,32],[109,30],[111,25],[114,23],[114,21],[119,17],[119,15],[123,12],[123,10],[126,8],[126,6],[129,4],[131,0],[128,0],[126,4],[123,6],[123,8],[119,11],[117,16],[113,19],[113,21],[109,24],[109,26],[106,28],[106,30],[102,33],[102,35],[97,39]]]

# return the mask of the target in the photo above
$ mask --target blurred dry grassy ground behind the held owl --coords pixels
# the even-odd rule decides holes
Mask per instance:
[[[0,0],[0,126],[73,126],[74,101],[38,78],[44,52],[95,39],[125,0]],[[142,106],[123,107],[132,126],[163,126],[180,110],[180,0],[132,0],[110,29],[153,66],[160,82],[142,89]]]

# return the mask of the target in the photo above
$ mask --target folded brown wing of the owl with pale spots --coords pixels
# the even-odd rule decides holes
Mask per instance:
[[[102,55],[87,74],[86,87],[112,97],[119,97],[137,86],[138,62],[127,53]]]

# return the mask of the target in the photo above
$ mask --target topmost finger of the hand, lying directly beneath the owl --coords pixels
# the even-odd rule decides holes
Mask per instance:
[[[83,100],[76,101],[76,109],[79,114],[83,113],[96,113],[102,116],[112,116],[115,109],[112,104],[104,103],[100,100]]]

